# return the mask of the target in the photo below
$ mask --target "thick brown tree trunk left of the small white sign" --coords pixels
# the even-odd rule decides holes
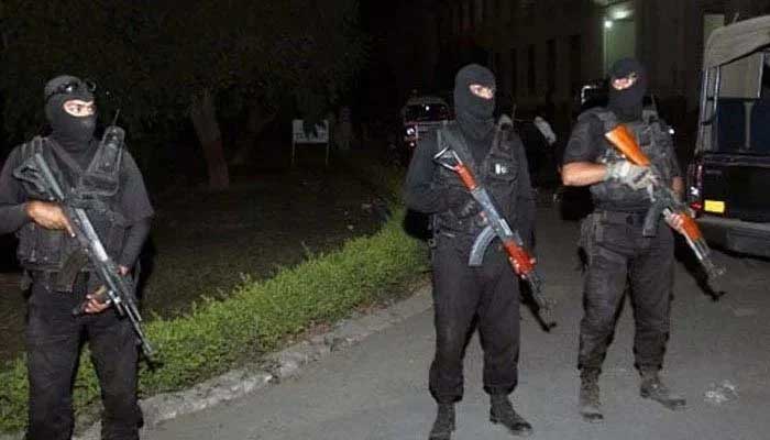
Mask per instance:
[[[227,189],[230,186],[230,173],[224,161],[222,134],[217,121],[217,107],[210,90],[204,90],[193,98],[190,119],[204,147],[204,157],[209,170],[209,188]]]

